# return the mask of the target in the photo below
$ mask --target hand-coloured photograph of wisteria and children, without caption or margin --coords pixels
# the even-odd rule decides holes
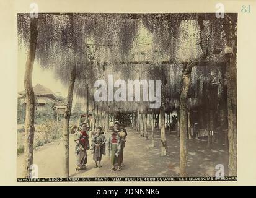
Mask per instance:
[[[237,176],[237,26],[17,14],[17,178]]]

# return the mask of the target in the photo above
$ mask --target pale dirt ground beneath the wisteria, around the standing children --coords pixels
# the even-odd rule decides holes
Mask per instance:
[[[167,156],[161,157],[161,139],[159,130],[155,132],[156,147],[151,148],[151,140],[139,136],[134,129],[127,128],[128,136],[124,149],[125,167],[121,171],[110,171],[110,159],[107,155],[102,158],[102,168],[94,168],[92,154],[88,150],[87,170],[75,170],[74,137],[69,139],[69,174],[72,177],[97,176],[179,176],[179,138],[167,138]],[[106,134],[108,136],[108,134]],[[223,164],[227,170],[228,153],[221,145],[214,145],[211,151],[206,149],[207,142],[202,139],[188,140],[188,174],[189,176],[214,176],[215,166]],[[63,144],[52,142],[39,147],[34,152],[34,163],[38,165],[39,177],[63,176]],[[21,175],[22,157],[17,158],[17,176]],[[225,175],[227,173],[225,172]]]

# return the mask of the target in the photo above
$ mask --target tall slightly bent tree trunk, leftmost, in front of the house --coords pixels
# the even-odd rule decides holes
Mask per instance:
[[[25,65],[24,87],[26,93],[26,115],[25,115],[25,142],[24,142],[24,178],[30,177],[30,166],[33,164],[33,139],[35,120],[35,93],[32,86],[33,62],[35,60],[35,49],[37,47],[37,25],[38,18],[30,19],[30,44],[29,54]]]

